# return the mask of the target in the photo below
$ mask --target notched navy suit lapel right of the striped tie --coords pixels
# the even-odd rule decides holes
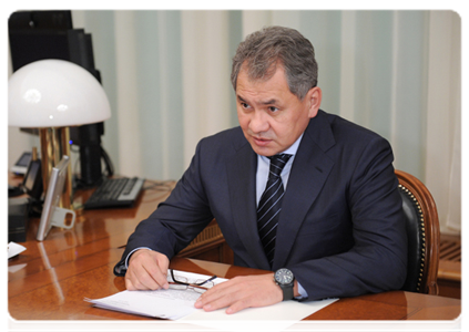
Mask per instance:
[[[319,113],[309,122],[293,162],[278,221],[274,270],[285,267],[305,216],[327,180],[334,162],[325,152],[334,144],[330,125]]]

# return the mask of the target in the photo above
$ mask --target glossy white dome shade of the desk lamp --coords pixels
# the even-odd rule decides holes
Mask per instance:
[[[111,107],[100,82],[63,60],[40,60],[7,81],[7,126],[63,127],[102,122]]]

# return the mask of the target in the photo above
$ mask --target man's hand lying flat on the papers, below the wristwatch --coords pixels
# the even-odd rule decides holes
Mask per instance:
[[[282,289],[274,282],[274,274],[236,277],[203,293],[195,308],[213,311],[226,308],[235,313],[245,308],[266,307],[282,302]]]

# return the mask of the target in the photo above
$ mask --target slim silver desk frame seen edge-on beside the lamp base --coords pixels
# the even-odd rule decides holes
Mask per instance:
[[[69,156],[63,156],[62,160],[52,168],[35,237],[38,241],[43,241],[45,239],[52,226],[70,229],[75,222],[75,212],[59,206],[65,184],[69,163]]]

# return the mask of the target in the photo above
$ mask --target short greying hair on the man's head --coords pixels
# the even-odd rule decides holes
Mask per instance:
[[[285,69],[289,91],[299,100],[317,85],[317,62],[313,44],[298,31],[284,27],[267,27],[246,37],[233,58],[232,84],[243,68],[251,80],[268,80],[277,64]]]

